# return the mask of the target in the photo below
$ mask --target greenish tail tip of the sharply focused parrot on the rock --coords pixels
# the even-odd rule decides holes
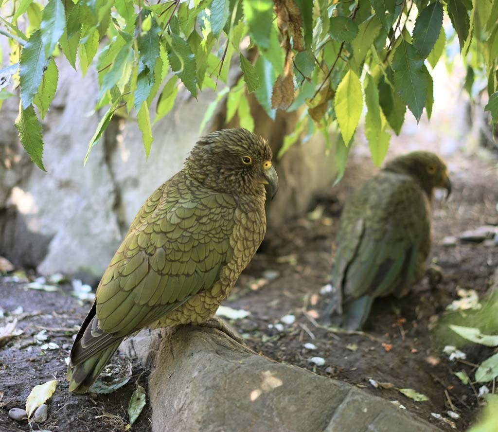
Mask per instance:
[[[107,362],[120,346],[122,340],[123,339],[117,340],[114,344],[108,346],[106,349],[93,355],[82,363],[78,363],[75,366],[70,365],[67,370],[69,391],[74,393],[88,392],[102,369],[104,369]]]

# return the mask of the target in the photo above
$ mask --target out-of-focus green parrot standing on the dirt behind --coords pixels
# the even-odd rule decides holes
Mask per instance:
[[[333,299],[345,328],[361,328],[376,297],[401,297],[426,272],[434,188],[451,192],[445,163],[429,151],[388,162],[344,206],[332,269]]]

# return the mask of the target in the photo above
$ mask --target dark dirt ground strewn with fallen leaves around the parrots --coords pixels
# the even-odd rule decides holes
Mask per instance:
[[[489,357],[492,349],[468,345],[462,348],[465,360],[450,361],[442,348],[452,341],[438,329],[445,327],[446,306],[459,298],[459,288],[475,289],[484,296],[498,266],[498,246],[459,242],[444,246],[442,240],[485,224],[498,225],[497,173],[489,157],[460,154],[449,161],[454,191],[450,200],[436,200],[434,209],[432,260],[444,275],[436,289],[424,280],[403,299],[376,301],[364,333],[346,334],[324,325],[320,314],[330,294],[321,290],[329,283],[338,218],[351,190],[374,171],[367,155],[356,154],[343,181],[317,198],[306,217],[268,232],[263,250],[224,303],[250,311],[250,315],[230,322],[247,338],[249,347],[262,355],[398,401],[410,413],[443,430],[465,430],[480,406],[478,385],[464,385],[454,373],[463,370],[473,377],[475,365]],[[61,292],[44,292],[3,278],[0,288],[0,310],[5,318],[22,306],[16,319],[17,328],[23,330],[0,348],[0,431],[29,431],[31,427],[54,432],[124,431],[135,383],[146,387],[146,371],[133,359],[129,359],[133,376],[117,392],[96,396],[67,393],[64,359],[90,302],[69,295],[68,286],[62,286]],[[295,320],[282,319],[285,315],[293,315]],[[457,315],[462,318],[464,312]],[[0,321],[1,325],[4,322]],[[48,336],[44,343],[54,342],[58,349],[41,349],[34,335],[43,329]],[[315,348],[305,348],[307,343]],[[323,358],[324,364],[311,362],[312,357]],[[122,372],[127,362],[119,357],[113,360]],[[108,371],[114,377],[113,369]],[[10,408],[24,407],[35,385],[52,379],[58,384],[48,402],[47,422],[30,427],[8,418]],[[397,390],[401,388],[413,389],[429,400],[414,402]],[[495,389],[490,385],[490,390]],[[150,431],[148,407],[132,430]],[[449,410],[460,417],[450,418]],[[446,422],[431,413],[443,416]]]

